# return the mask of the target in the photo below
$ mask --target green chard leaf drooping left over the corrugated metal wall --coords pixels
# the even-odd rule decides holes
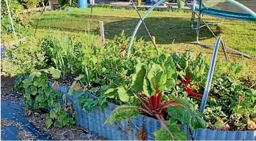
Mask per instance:
[[[122,121],[136,117],[139,114],[138,107],[129,105],[120,105],[113,110],[111,115],[105,121],[105,124],[113,124],[115,121]]]

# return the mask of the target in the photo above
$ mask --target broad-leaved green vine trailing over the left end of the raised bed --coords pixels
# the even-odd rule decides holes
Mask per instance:
[[[22,92],[27,108],[52,108],[45,119],[47,128],[50,128],[52,124],[57,127],[75,124],[72,113],[62,110],[62,105],[56,103],[62,94],[49,86],[48,72],[52,77],[59,77],[56,75],[59,70],[55,68],[33,71],[29,77],[17,77],[15,90]]]

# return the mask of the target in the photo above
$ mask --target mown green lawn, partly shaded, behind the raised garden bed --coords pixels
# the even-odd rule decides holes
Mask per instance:
[[[141,14],[145,11],[140,11]],[[196,36],[191,29],[190,12],[184,11],[152,11],[145,19],[145,23],[150,29],[150,33],[155,36],[157,45],[165,47],[170,52],[205,52],[210,60],[212,48],[201,47],[195,44]],[[32,15],[31,20],[38,19],[39,14]],[[222,22],[222,19],[214,17],[204,17],[208,22]],[[104,22],[105,36],[113,39],[115,34],[120,34],[122,30],[131,36],[138,22],[138,15],[135,10],[93,8],[92,24],[90,23],[90,8],[72,8],[71,11],[48,11],[43,14],[38,24],[36,36],[43,37],[55,34],[69,34],[72,36],[85,36],[85,31],[91,27],[95,34],[99,33],[99,21]],[[211,27],[215,34],[225,39],[227,46],[236,50],[256,56],[256,23],[225,20],[218,26]],[[55,31],[57,30],[57,31]],[[149,40],[148,34],[143,25],[138,30],[137,36],[143,36]],[[174,40],[174,43],[173,43]],[[201,41],[203,43],[215,43],[215,38],[207,29],[201,29]],[[173,43],[173,44],[172,44]],[[255,75],[256,60],[245,59],[237,55],[229,55],[232,61],[243,63],[250,74]],[[222,54],[220,59],[224,60]]]

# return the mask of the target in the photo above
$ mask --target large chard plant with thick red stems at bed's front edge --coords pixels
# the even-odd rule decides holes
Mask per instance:
[[[206,124],[189,101],[180,98],[162,100],[164,91],[173,91],[176,83],[177,71],[171,56],[162,54],[155,61],[138,63],[136,72],[132,75],[130,89],[121,86],[118,93],[122,93],[122,98],[129,98],[134,94],[141,105],[118,106],[108,117],[106,124],[136,117],[141,112],[159,120],[162,128],[155,131],[155,138],[158,140],[186,140],[186,134],[178,128],[177,120],[193,129],[205,128]],[[165,121],[164,113],[172,118]]]

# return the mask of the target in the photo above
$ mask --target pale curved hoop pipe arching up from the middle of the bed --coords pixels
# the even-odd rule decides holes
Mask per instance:
[[[145,17],[147,17],[148,14],[149,14],[155,7],[159,6],[159,5],[160,5],[161,3],[163,3],[164,1],[166,1],[166,0],[160,0],[160,1],[158,1],[157,3],[155,3],[152,7],[150,7],[150,8],[145,12],[145,14],[143,15],[143,17],[141,17],[142,20],[144,20]],[[127,51],[127,59],[129,59],[129,57],[130,57],[130,54],[131,54],[131,46],[132,46],[132,43],[134,42],[134,38],[135,38],[135,36],[136,36],[136,34],[137,34],[138,28],[141,26],[142,20],[139,20],[139,21],[138,21],[138,24],[136,25],[136,28],[134,29],[134,33],[133,33],[132,36],[131,36],[131,40],[130,40],[130,42],[129,42],[129,47],[128,47],[128,51]]]

